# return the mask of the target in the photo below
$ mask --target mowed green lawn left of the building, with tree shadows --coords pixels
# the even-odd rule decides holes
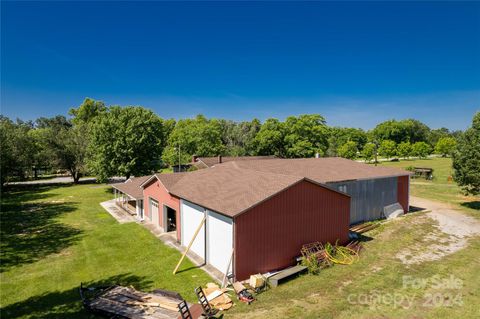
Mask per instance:
[[[104,185],[16,188],[1,201],[1,317],[85,318],[80,282],[164,288],[195,300],[212,279],[136,223],[118,224]]]

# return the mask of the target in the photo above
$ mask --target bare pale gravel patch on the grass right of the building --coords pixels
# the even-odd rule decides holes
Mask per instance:
[[[480,222],[465,216],[450,205],[411,197],[411,204],[429,209],[425,216],[436,223],[435,230],[419,243],[400,251],[396,257],[405,265],[420,264],[453,254],[468,245],[468,239],[480,235]]]

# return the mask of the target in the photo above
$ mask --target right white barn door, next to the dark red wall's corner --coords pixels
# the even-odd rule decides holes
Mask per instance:
[[[230,262],[233,248],[232,219],[208,211],[207,223],[207,261],[222,273],[225,273],[228,263]]]

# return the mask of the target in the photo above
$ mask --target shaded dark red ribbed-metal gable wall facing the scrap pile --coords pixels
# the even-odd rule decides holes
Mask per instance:
[[[237,216],[237,280],[294,264],[303,244],[348,241],[350,197],[302,181]]]

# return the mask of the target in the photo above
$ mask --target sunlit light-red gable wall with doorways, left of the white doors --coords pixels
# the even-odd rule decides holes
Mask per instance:
[[[159,207],[158,207],[158,215],[159,215],[159,221],[156,221],[160,227],[163,226],[163,205],[166,205],[170,208],[175,209],[176,211],[176,218],[177,218],[177,239],[180,240],[180,200],[175,197],[170,195],[170,193],[167,192],[167,189],[163,186],[163,184],[157,180],[154,179],[150,184],[146,185],[145,188],[143,189],[143,211],[145,216],[148,216],[150,218],[150,212],[149,212],[149,200],[148,198],[151,197],[154,200],[158,201]]]

